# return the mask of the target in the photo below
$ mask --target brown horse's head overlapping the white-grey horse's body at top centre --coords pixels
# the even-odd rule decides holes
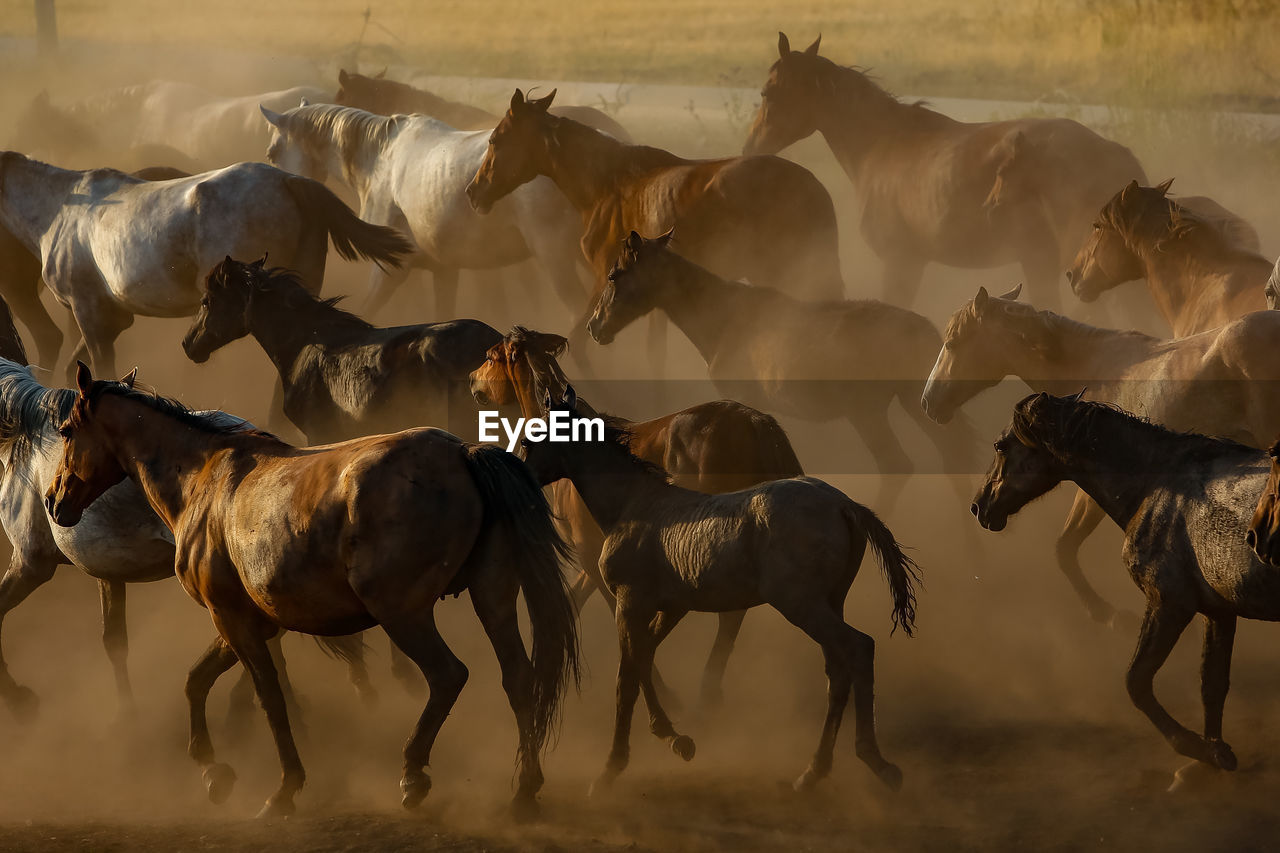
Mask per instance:
[[[467,199],[479,213],[489,213],[494,204],[522,183],[545,172],[549,146],[559,119],[548,113],[556,90],[547,97],[526,99],[518,88],[511,96],[507,114],[489,134],[489,150],[476,174],[467,184]]]

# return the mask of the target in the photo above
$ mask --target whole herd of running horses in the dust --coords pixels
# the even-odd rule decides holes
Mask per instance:
[[[846,421],[876,460],[876,507],[891,516],[916,467],[892,405],[946,473],[965,474],[982,444],[963,409],[1006,377],[1033,393],[995,442],[973,515],[1001,530],[1075,484],[1057,560],[1102,622],[1121,611],[1089,585],[1078,551],[1105,516],[1115,521],[1147,598],[1129,695],[1188,767],[1235,768],[1222,740],[1235,622],[1280,620],[1280,444],[1270,459],[1262,450],[1280,434],[1280,313],[1268,310],[1280,275],[1248,223],[1211,199],[1175,200],[1169,182],[1148,186],[1126,147],[1078,122],[956,122],[781,33],[744,155],[713,160],[636,145],[600,110],[553,106],[554,91],[517,90],[495,115],[383,76],[343,70],[338,82],[335,96],[224,99],[165,82],[64,108],[42,95],[17,147],[58,161],[87,150],[141,170],[0,154],[0,292],[44,366],[61,364],[63,339],[41,279],[82,336],[67,361],[76,389],[47,388],[0,311],[0,520],[14,551],[0,619],[60,564],[95,578],[127,710],[125,584],[177,575],[216,629],[186,689],[189,754],[211,800],[236,781],[206,721],[215,680],[243,665],[236,717],[243,725],[251,684],[283,770],[262,815],[285,816],[305,776],[270,646],[283,630],[325,638],[371,699],[358,633],[380,626],[398,674],[416,666],[430,688],[401,781],[403,804],[419,804],[467,680],[434,607],[463,590],[520,733],[518,817],[536,813],[540,756],[580,674],[576,610],[596,590],[621,658],[595,788],[626,767],[641,697],[650,731],[694,757],[663,710],[655,651],[686,613],[718,613],[701,688],[716,704],[744,613],[760,605],[826,662],[827,715],[796,789],[829,774],[850,695],[858,757],[899,788],[902,772],[877,743],[874,642],[845,621],[845,599],[869,548],[892,625],[910,635],[920,569],[876,512],[805,476],[773,415]],[[808,169],[776,156],[815,132],[883,261],[879,301],[846,298],[836,205]],[[321,298],[330,243],[372,263],[365,314],[424,269],[442,321],[379,328]],[[527,259],[563,302],[568,337],[451,319],[461,270]],[[1020,264],[1039,307],[1020,301],[1021,286],[980,288],[940,333],[911,310],[933,263]],[[1172,339],[1055,313],[1064,269],[1083,301],[1144,279]],[[307,446],[143,392],[136,370],[104,379],[136,315],[195,315],[182,347],[197,364],[252,337],[279,374],[269,425],[283,415]],[[649,370],[664,370],[669,320],[726,400],[632,421],[577,396],[559,362],[570,342],[590,370],[588,337],[611,345],[644,316]],[[477,406],[602,430],[564,442],[530,433],[517,456],[457,437],[476,434]],[[1197,613],[1202,733],[1152,690]],[[36,712],[3,661],[0,697],[19,720]]]

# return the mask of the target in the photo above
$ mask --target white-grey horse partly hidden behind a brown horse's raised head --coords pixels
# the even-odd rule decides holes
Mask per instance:
[[[467,205],[463,191],[484,160],[485,133],[456,131],[424,115],[384,117],[332,104],[262,114],[274,128],[271,163],[316,181],[342,178],[360,197],[364,219],[413,238],[404,266],[374,270],[366,314],[378,311],[416,266],[431,270],[436,316],[449,319],[460,269],[493,269],[526,257],[539,263],[570,311],[582,310],[579,224],[550,181],[524,187],[493,216],[479,216]]]

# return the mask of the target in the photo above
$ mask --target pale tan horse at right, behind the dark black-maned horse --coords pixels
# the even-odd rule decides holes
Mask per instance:
[[[1018,302],[1021,287],[1002,296],[986,288],[947,323],[945,342],[920,405],[938,423],[1005,377],[1033,391],[1065,393],[1087,387],[1089,400],[1115,403],[1175,429],[1230,435],[1261,447],[1280,430],[1280,314],[1256,311],[1220,329],[1174,341],[1076,323]],[[1059,567],[1094,621],[1132,621],[1089,585],[1079,551],[1105,517],[1083,491],[1059,533]]]

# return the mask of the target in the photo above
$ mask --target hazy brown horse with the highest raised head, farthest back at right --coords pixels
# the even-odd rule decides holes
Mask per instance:
[[[911,305],[925,264],[1021,264],[1037,301],[1059,301],[1065,260],[1115,188],[1146,179],[1129,149],[1070,119],[956,122],[904,104],[864,72],[818,55],[778,60],[744,151],[822,133],[859,193],[861,232],[884,261],[886,301]]]

